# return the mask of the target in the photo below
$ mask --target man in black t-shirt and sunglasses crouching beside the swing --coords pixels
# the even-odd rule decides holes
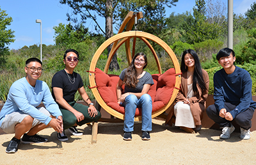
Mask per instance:
[[[76,126],[97,121],[101,117],[100,112],[96,110],[92,101],[84,90],[83,80],[81,76],[74,72],[79,59],[76,50],[68,49],[63,56],[65,68],[58,71],[52,77],[52,96],[60,106],[63,115],[63,128],[68,129],[73,135],[79,136],[83,133],[77,131]],[[79,92],[83,100],[88,106],[78,104],[74,101],[76,92]],[[68,138],[63,133],[58,133],[58,140],[67,141]]]

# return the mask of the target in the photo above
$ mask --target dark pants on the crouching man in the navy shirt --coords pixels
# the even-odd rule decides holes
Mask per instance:
[[[224,106],[228,111],[232,111],[236,108],[235,105],[230,104],[230,103],[225,103]],[[215,107],[214,104],[208,106],[208,108],[206,109],[206,113],[208,115],[209,118],[211,118],[212,120],[214,120],[214,122],[216,122],[217,124],[220,125],[220,127],[230,127],[231,126],[231,121],[226,120],[225,118],[220,117],[219,113],[220,111],[218,111]],[[233,120],[243,129],[250,129],[252,127],[252,117],[253,117],[253,113],[254,113],[254,109],[252,107],[249,107],[247,110],[239,113],[235,118],[233,118]]]

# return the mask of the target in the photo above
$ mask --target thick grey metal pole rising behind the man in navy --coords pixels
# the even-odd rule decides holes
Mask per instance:
[[[228,0],[228,48],[233,49],[233,0]]]

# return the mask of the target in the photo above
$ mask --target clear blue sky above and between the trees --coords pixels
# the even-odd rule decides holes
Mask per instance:
[[[206,0],[207,1],[207,0]],[[215,0],[216,1],[216,0]],[[221,0],[227,6],[228,0]],[[234,13],[244,14],[255,0],[234,0]],[[191,11],[195,6],[195,0],[179,0],[177,6],[172,6],[166,12],[184,13]],[[19,49],[30,45],[40,45],[40,24],[36,19],[42,20],[42,43],[54,45],[54,29],[58,24],[68,24],[66,13],[71,12],[67,5],[59,3],[59,0],[1,0],[1,10],[6,10],[8,17],[13,18],[13,22],[8,29],[12,29],[15,35],[14,43],[8,45],[10,49]],[[104,18],[100,19],[102,29],[105,28]],[[88,20],[86,27],[93,31],[94,22]]]

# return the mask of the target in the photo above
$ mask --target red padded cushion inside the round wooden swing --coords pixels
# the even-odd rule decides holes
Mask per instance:
[[[152,78],[154,85],[151,85],[148,94],[152,97],[152,112],[154,112],[163,108],[172,97],[173,87],[175,85],[175,70],[173,68],[168,69],[162,75],[152,75]],[[109,107],[124,114],[125,109],[117,103],[116,98],[118,80],[118,75],[107,75],[99,68],[95,68],[95,82],[100,96]],[[136,108],[135,115],[141,115],[141,108]]]

